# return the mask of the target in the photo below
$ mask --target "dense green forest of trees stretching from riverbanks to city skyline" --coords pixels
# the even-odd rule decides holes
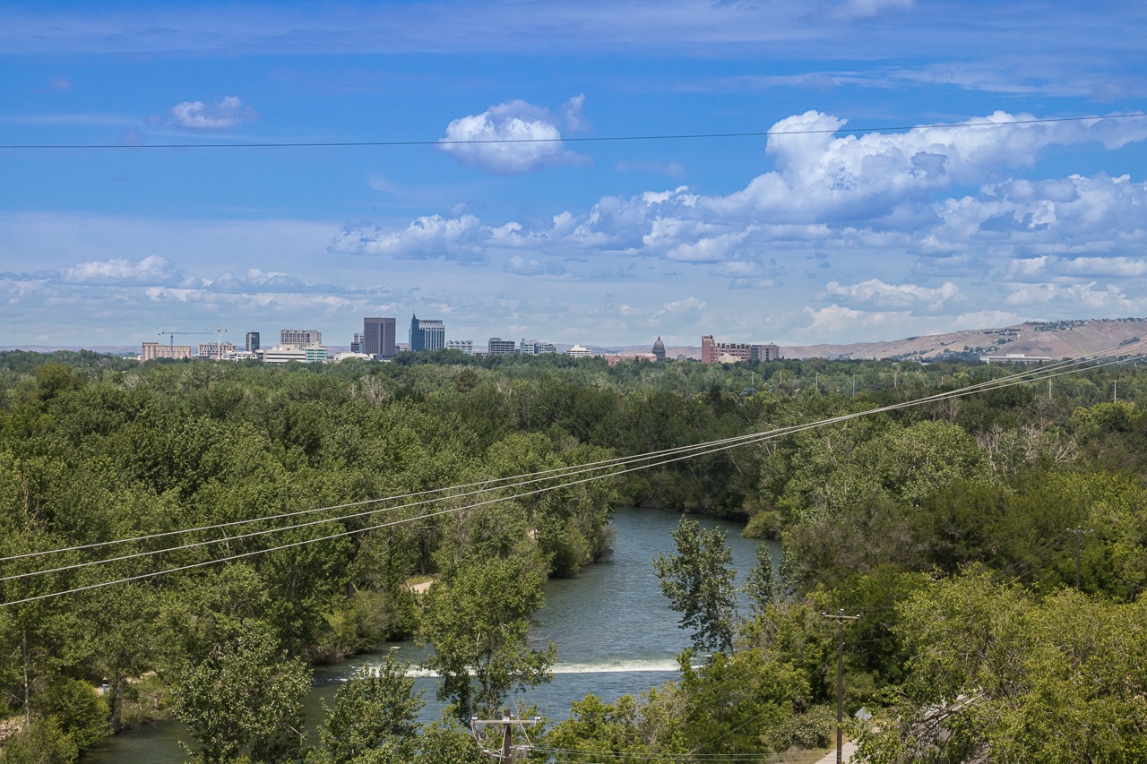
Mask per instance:
[[[19,730],[0,763],[73,762],[171,716],[196,762],[483,761],[458,719],[545,680],[553,649],[525,639],[543,583],[608,551],[615,506],[740,520],[782,543],[781,569],[762,561],[738,613],[721,539],[682,524],[656,572],[699,649],[640,697],[575,703],[543,759],[825,746],[835,631],[820,614],[844,609],[861,616],[845,707],[872,714],[850,732],[869,761],[1144,761],[1147,375],[1097,365],[895,407],[1015,372],[0,353],[0,687]],[[491,601],[504,582],[516,597]],[[453,715],[418,723],[389,665],[346,683],[305,740],[310,665],[398,637],[435,647]]]

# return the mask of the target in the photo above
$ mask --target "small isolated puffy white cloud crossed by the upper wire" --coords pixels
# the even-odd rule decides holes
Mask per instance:
[[[583,96],[563,109],[571,128],[582,130]],[[515,100],[482,114],[454,119],[438,148],[462,164],[504,176],[533,172],[563,164],[584,164],[588,157],[565,149],[557,119],[547,109]]]

